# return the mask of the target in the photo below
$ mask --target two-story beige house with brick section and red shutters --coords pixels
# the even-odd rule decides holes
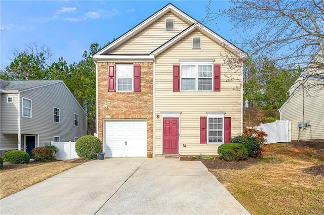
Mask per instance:
[[[93,56],[106,156],[217,154],[242,132],[246,53],[168,4]]]

